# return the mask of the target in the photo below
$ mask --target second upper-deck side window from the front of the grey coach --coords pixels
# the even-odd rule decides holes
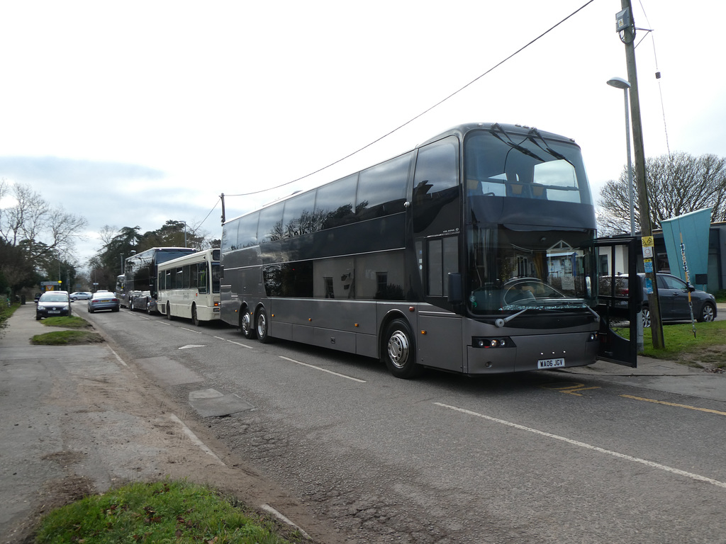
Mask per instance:
[[[407,153],[360,173],[356,215],[361,220],[404,211],[411,157]]]

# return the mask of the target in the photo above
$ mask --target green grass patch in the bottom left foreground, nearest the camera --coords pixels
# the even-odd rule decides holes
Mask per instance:
[[[275,522],[209,487],[184,481],[136,482],[83,498],[41,519],[36,543],[290,544]]]

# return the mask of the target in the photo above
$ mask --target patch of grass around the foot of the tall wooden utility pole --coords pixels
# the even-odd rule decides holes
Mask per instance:
[[[618,334],[629,338],[629,329],[618,329]],[[696,323],[696,336],[691,323],[669,323],[663,326],[664,349],[653,347],[653,334],[643,329],[643,355],[655,359],[688,363],[701,360],[717,368],[726,368],[726,321]]]

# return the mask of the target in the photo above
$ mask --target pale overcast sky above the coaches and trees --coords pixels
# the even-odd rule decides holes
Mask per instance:
[[[623,91],[605,83],[627,78],[620,9],[620,0],[0,0],[0,178],[88,219],[81,264],[105,225],[204,221],[219,238],[222,193],[233,218],[459,123],[575,139],[597,198],[626,162]],[[637,28],[653,29],[638,30],[636,49],[646,157],[726,156],[726,3],[634,0],[633,10]]]

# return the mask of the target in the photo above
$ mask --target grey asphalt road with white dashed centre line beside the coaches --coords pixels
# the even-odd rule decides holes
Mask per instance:
[[[221,324],[89,317],[351,542],[726,542],[722,400],[555,372],[402,381]]]

